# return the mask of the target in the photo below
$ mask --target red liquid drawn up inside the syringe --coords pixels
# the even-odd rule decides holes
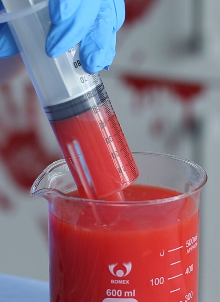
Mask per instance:
[[[83,109],[85,103],[87,108]],[[77,100],[73,100],[70,106],[75,104]],[[102,94],[96,90],[84,95],[82,106],[77,107],[79,114],[75,110],[68,118],[50,121],[80,196],[86,198],[88,194],[70,153],[70,149],[76,146],[79,146],[89,170],[95,198],[123,200],[122,190],[137,179],[138,171],[112,105],[103,90]],[[68,110],[66,112],[71,115]]]

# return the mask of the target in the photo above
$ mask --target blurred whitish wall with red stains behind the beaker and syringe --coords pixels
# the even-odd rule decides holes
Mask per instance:
[[[216,0],[126,5],[117,55],[101,76],[132,150],[175,154],[207,171],[199,302],[217,301],[220,6]],[[61,154],[27,72],[6,76],[0,79],[0,272],[48,280],[47,204],[29,191]]]

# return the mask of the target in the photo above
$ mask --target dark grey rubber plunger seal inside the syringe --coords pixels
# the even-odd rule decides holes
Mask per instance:
[[[108,96],[103,91],[105,91],[104,85],[98,85],[77,98],[61,104],[44,107],[44,111],[50,122],[74,117],[104,102]]]

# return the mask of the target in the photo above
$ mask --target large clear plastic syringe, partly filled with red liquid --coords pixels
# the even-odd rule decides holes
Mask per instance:
[[[99,74],[84,72],[79,45],[47,56],[48,1],[2,2],[0,22],[8,21],[80,196],[123,200],[138,171]]]

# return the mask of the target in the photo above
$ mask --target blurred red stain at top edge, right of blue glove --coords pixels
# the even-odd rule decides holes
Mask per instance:
[[[150,13],[151,8],[156,2],[158,0],[125,0],[125,24],[133,23]]]

